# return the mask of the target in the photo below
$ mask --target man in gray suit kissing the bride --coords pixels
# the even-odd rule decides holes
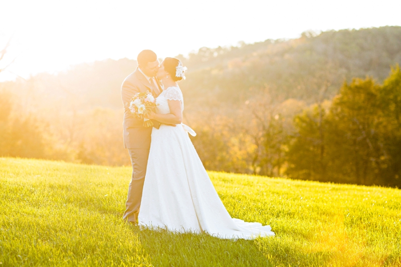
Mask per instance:
[[[159,68],[156,54],[151,50],[143,50],[139,53],[137,62],[138,67],[125,78],[121,86],[124,104],[124,148],[128,149],[132,164],[132,178],[128,187],[123,219],[134,224],[138,221],[152,127],[143,127],[143,120],[134,117],[128,107],[136,93],[149,91],[157,97],[162,91],[157,79],[154,78]],[[153,124],[156,128],[160,126],[157,121],[153,121]]]

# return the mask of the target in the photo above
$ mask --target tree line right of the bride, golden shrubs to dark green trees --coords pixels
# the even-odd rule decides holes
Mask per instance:
[[[192,138],[208,169],[295,179],[401,185],[401,71],[382,85],[373,78],[344,83],[330,101],[250,102],[225,123],[196,125]],[[295,107],[291,118],[285,107]],[[288,112],[287,112],[288,113]]]

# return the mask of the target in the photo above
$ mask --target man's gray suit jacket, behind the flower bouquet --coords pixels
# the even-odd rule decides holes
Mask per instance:
[[[124,120],[123,120],[123,139],[124,148],[135,149],[149,149],[150,148],[150,134],[152,127],[143,127],[143,120],[136,118],[129,110],[129,103],[131,98],[139,92],[151,92],[155,97],[154,91],[151,89],[150,83],[145,76],[136,68],[136,70],[125,78],[121,86],[121,98],[124,105]],[[159,88],[161,92],[161,88]],[[158,122],[153,121],[158,124]]]

